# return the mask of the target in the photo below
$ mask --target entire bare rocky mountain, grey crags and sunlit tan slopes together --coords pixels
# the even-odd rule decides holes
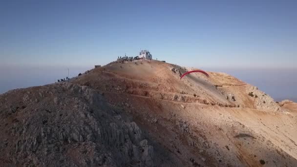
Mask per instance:
[[[295,166],[297,107],[228,74],[110,63],[0,95],[3,166]]]

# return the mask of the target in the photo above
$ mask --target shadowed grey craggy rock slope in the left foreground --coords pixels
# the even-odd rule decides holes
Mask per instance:
[[[158,150],[138,125],[86,86],[13,90],[0,96],[0,106],[1,166],[158,164]]]

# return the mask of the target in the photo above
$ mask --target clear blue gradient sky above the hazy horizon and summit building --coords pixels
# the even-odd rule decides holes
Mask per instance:
[[[149,49],[195,67],[295,68],[297,1],[1,0],[1,65],[90,66]]]

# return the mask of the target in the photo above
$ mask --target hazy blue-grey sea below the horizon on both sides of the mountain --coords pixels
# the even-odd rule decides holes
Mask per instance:
[[[68,67],[3,67],[0,66],[0,93],[10,89],[52,84],[68,76]],[[69,67],[69,77],[92,69],[93,66]],[[203,68],[225,72],[248,84],[257,86],[275,101],[284,99],[297,102],[297,69],[227,69]]]

